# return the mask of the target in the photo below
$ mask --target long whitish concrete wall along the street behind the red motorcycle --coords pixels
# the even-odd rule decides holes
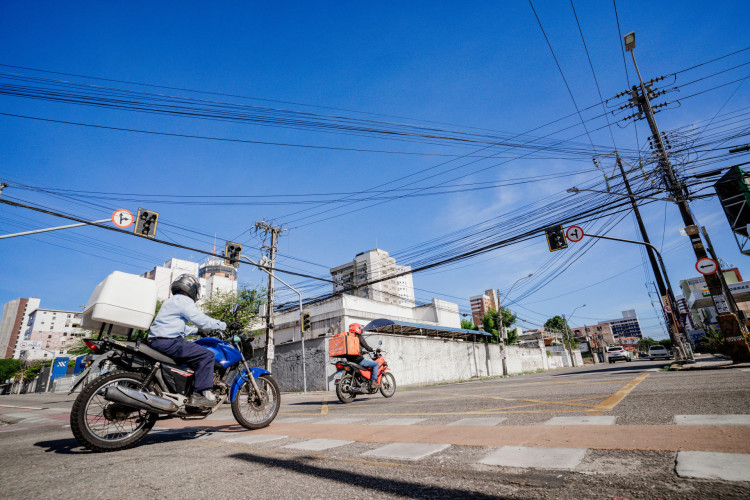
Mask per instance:
[[[538,346],[502,346],[391,334],[368,334],[365,338],[373,348],[382,340],[380,348],[397,386],[499,377],[570,365],[566,355],[547,356],[546,349]],[[328,357],[328,341],[328,337],[305,341],[308,391],[335,389],[336,368],[332,364],[334,360]],[[263,366],[264,356],[263,349],[257,350],[252,364]],[[582,364],[579,362],[578,366]],[[282,391],[301,391],[301,342],[276,346],[271,372]]]

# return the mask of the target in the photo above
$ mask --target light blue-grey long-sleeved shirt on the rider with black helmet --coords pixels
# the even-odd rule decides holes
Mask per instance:
[[[213,319],[201,312],[190,297],[174,295],[161,305],[159,314],[151,323],[148,338],[178,338],[192,335],[198,331],[198,328],[188,326],[186,324],[188,321],[206,330],[226,330],[227,328],[223,321]]]

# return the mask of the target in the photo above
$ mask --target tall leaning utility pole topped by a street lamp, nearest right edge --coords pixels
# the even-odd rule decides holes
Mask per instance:
[[[648,121],[648,125],[651,128],[651,134],[654,139],[654,143],[656,144],[656,150],[659,157],[659,165],[661,166],[662,172],[664,174],[664,181],[666,183],[667,189],[672,194],[677,203],[677,206],[679,207],[680,215],[682,216],[682,220],[686,226],[685,231],[690,237],[690,242],[692,243],[696,260],[707,258],[708,254],[706,253],[706,249],[703,246],[703,242],[701,241],[700,231],[698,229],[698,226],[695,224],[695,221],[693,220],[692,213],[690,212],[690,206],[688,205],[688,200],[685,195],[685,186],[677,179],[677,176],[672,169],[672,164],[669,161],[667,148],[664,146],[664,140],[662,139],[661,132],[659,131],[659,127],[656,125],[654,110],[651,107],[651,101],[649,97],[655,97],[657,94],[651,91],[651,83],[649,83],[649,88],[647,89],[647,85],[643,82],[641,72],[638,69],[638,63],[636,63],[635,61],[635,33],[631,32],[625,35],[624,42],[625,49],[630,52],[630,55],[633,59],[633,66],[635,66],[635,71],[638,74],[638,81],[640,82],[640,87],[636,87],[634,85],[632,91],[630,92],[631,105],[638,107],[639,111],[637,113],[637,116],[639,118],[645,115],[646,120]],[[721,270],[719,270],[719,272],[721,272]],[[727,335],[731,335],[731,338],[734,338],[734,332],[740,329],[739,320],[737,319],[736,315],[732,314],[729,306],[727,305],[727,300],[722,293],[721,282],[716,274],[705,275],[705,280],[706,285],[708,285],[708,291],[711,294],[711,298],[713,299],[714,306],[716,307],[716,311],[719,313],[719,327],[725,337],[727,337]],[[733,319],[722,319],[723,315],[731,316]],[[732,333],[724,332],[725,329],[731,330]],[[747,350],[747,342],[744,342],[744,350]]]

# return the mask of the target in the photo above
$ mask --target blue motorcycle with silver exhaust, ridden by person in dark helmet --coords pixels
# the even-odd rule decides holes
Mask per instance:
[[[98,339],[84,339],[95,355],[70,393],[90,370],[101,371],[73,403],[70,427],[78,442],[93,451],[122,450],[143,439],[158,420],[204,419],[227,399],[234,418],[246,429],[268,426],[281,404],[278,384],[268,371],[248,365],[253,346],[245,335],[214,333],[218,336],[195,341],[216,359],[212,407],[189,406],[193,371],[145,343],[102,338],[102,332]]]

